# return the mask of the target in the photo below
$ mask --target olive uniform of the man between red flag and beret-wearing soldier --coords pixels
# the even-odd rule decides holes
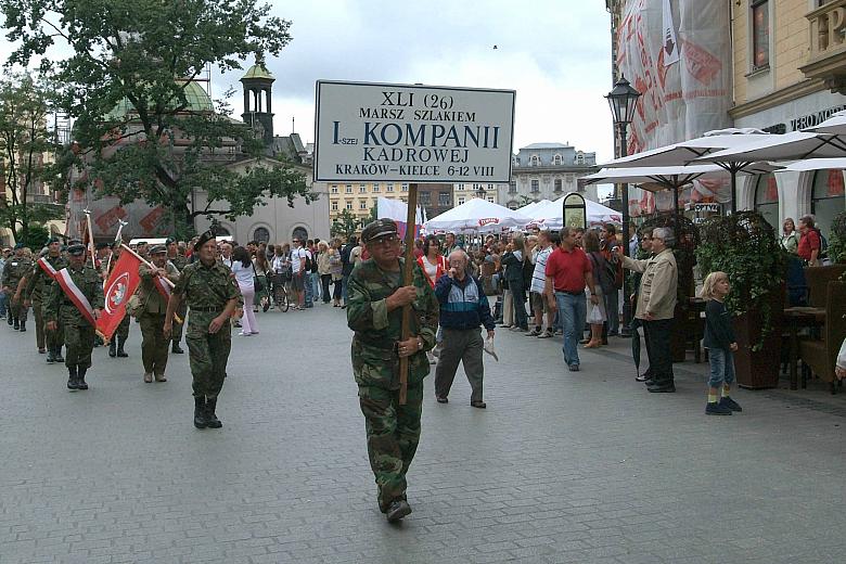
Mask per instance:
[[[165,264],[167,279],[171,282],[179,280],[179,272],[169,262]],[[162,376],[167,368],[168,344],[165,338],[164,325],[167,313],[167,299],[156,289],[154,271],[146,265],[138,268],[141,277],[141,313],[138,321],[141,324],[141,360],[144,363],[144,373]],[[129,317],[129,316],[127,316]]]

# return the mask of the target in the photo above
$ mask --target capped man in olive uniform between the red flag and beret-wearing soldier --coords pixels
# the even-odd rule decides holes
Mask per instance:
[[[166,278],[176,283],[179,280],[179,271],[167,261],[167,248],[156,245],[150,249],[153,267],[142,264],[138,268],[141,277],[140,296],[143,304],[138,321],[141,323],[141,359],[144,363],[144,382],[167,382],[165,368],[167,368],[167,348],[170,339],[165,338],[165,313],[167,312],[167,298],[155,284],[156,278]]]

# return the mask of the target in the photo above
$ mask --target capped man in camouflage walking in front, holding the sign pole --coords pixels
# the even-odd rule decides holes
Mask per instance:
[[[379,508],[389,522],[411,513],[406,473],[420,440],[426,350],[435,346],[438,304],[414,265],[413,283],[402,285],[397,226],[380,219],[367,226],[361,240],[371,259],[349,275],[347,324],[352,337],[352,371],[367,422],[368,454],[379,488]],[[402,306],[412,306],[411,331],[400,341]],[[408,358],[408,398],[399,405],[399,359]]]

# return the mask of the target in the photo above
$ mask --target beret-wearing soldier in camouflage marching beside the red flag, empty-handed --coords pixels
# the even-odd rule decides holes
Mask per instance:
[[[198,260],[184,268],[170,295],[164,324],[165,338],[170,338],[174,313],[185,300],[191,309],[185,343],[193,376],[194,426],[197,428],[221,426],[215,409],[227,377],[232,346],[229,319],[241,297],[232,271],[215,259],[216,254],[215,235],[206,231],[194,245]]]

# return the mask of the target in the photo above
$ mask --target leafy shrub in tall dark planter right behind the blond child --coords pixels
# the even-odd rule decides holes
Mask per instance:
[[[731,293],[726,308],[735,317],[738,383],[773,387],[779,379],[785,256],[772,227],[756,211],[714,217],[700,226],[696,259],[703,275],[721,270]],[[773,359],[776,359],[773,361]]]

